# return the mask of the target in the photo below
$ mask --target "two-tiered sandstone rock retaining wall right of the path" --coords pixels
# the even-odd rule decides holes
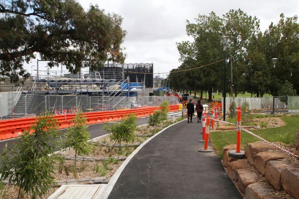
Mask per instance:
[[[228,145],[223,148],[223,164],[245,198],[274,198],[275,187],[299,199],[299,168],[280,161],[287,157],[285,152],[265,142],[253,142],[245,149],[246,159],[236,159],[228,155],[234,147]],[[264,175],[273,188],[258,182],[260,174],[250,169],[251,166]]]

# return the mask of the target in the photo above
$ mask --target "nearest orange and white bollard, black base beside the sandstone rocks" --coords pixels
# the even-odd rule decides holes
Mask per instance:
[[[245,152],[241,150],[241,107],[237,107],[237,144],[236,150],[229,152],[230,157],[244,158]]]

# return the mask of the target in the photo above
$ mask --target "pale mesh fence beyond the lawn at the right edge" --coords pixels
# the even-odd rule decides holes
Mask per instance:
[[[277,97],[227,97],[226,112],[229,112],[232,101],[236,106],[247,108],[251,112],[272,113],[274,112],[299,112],[299,96]],[[274,103],[273,103],[274,100]],[[223,101],[223,98],[222,98]]]

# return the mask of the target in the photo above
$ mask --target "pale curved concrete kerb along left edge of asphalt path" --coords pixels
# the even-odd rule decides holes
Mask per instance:
[[[181,120],[179,122],[182,122],[184,120]],[[145,142],[143,142],[140,146],[138,146],[133,153],[131,153],[127,159],[121,164],[121,166],[117,169],[117,171],[114,173],[114,175],[111,177],[111,179],[109,180],[105,190],[103,191],[103,194],[99,197],[96,197],[96,199],[106,199],[109,197],[116,181],[118,180],[119,176],[121,175],[121,173],[123,172],[123,170],[125,169],[125,167],[127,166],[127,164],[131,161],[131,159],[137,154],[137,152],[145,145],[147,144],[150,140],[152,140],[154,137],[156,137],[157,135],[159,135],[160,133],[162,133],[164,130],[166,130],[167,128],[179,123],[176,122],[174,124],[171,124],[169,126],[167,126],[166,128],[162,129],[161,131],[159,131],[158,133],[156,133],[155,135],[153,135],[152,137],[150,137],[149,139],[147,139]]]

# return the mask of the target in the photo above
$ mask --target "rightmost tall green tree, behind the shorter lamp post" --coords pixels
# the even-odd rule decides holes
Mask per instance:
[[[266,67],[273,74],[272,58],[278,58],[276,63],[275,93],[273,93],[273,82],[271,77],[270,92],[278,95],[280,85],[287,80],[293,84],[293,88],[299,94],[299,26],[297,16],[285,18],[280,15],[277,25],[270,24],[264,33]]]

